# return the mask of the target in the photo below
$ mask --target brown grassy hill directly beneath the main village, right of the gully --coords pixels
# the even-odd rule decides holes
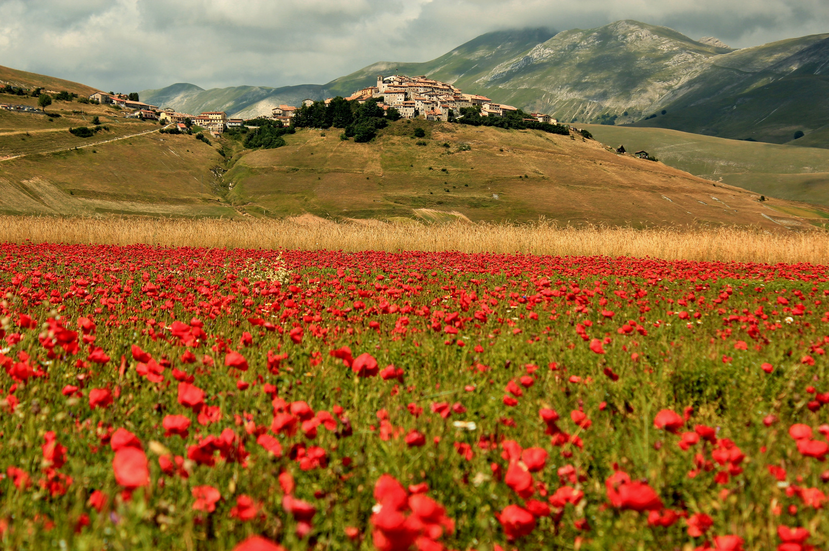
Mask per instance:
[[[775,225],[763,214],[777,213],[756,194],[618,156],[594,141],[439,123],[427,127],[421,147],[412,128],[400,121],[369,144],[298,131],[286,147],[241,156],[226,175],[230,198],[267,215],[395,218],[431,209],[470,220]],[[458,152],[461,143],[472,150]]]

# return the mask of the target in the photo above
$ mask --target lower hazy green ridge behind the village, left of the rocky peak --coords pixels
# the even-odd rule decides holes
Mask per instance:
[[[492,67],[511,59],[555,34],[549,29],[497,31],[478,36],[444,56],[425,63],[381,61],[351,75],[332,80],[327,85],[298,85],[282,88],[234,86],[202,89],[179,83],[162,89],[139,92],[142,101],[160,107],[172,107],[184,113],[225,111],[231,116],[254,118],[270,115],[279,104],[298,105],[303,99],[325,99],[335,95],[347,97],[355,90],[371,86],[377,75],[429,75],[438,80],[459,83],[463,87],[485,75]]]

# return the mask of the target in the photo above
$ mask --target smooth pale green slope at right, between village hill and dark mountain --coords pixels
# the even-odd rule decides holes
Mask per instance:
[[[826,149],[744,142],[666,128],[587,128],[601,142],[613,147],[623,144],[630,152],[644,149],[691,174],[768,196],[829,205]]]

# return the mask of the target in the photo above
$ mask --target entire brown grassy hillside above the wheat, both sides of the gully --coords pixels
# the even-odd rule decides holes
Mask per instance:
[[[81,107],[84,113],[72,113]],[[61,117],[50,122],[42,115],[0,112],[0,157],[26,155],[0,162],[0,212],[308,212],[335,219],[492,221],[545,216],[563,223],[701,221],[770,227],[775,223],[762,214],[796,225],[792,215],[807,212],[797,209],[812,208],[783,201],[778,205],[788,211],[770,210],[752,194],[713,190],[708,181],[659,163],[618,157],[580,137],[400,121],[375,143],[342,142],[337,130],[325,137],[300,130],[287,137],[287,147],[250,152],[225,138],[207,146],[192,137],[158,133],[99,143],[159,127],[128,121],[104,106],[56,102],[50,110]],[[85,139],[67,132],[70,126],[89,124],[96,114],[109,131]],[[426,146],[415,145],[410,137],[419,125],[429,134]],[[458,152],[465,143],[472,150]],[[91,144],[96,145],[71,149]],[[221,172],[230,165],[223,163],[220,147],[240,151],[224,178]],[[71,150],[51,153],[57,149]],[[521,177],[525,175],[529,177]]]

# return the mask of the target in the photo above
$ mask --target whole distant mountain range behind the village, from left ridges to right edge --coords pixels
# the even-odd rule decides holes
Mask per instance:
[[[674,128],[720,138],[829,147],[829,34],[734,51],[667,27],[498,31],[424,63],[382,61],[327,85],[144,90],[152,104],[245,118],[305,98],[347,96],[376,75],[429,75],[568,123]],[[803,137],[794,139],[796,133]]]

